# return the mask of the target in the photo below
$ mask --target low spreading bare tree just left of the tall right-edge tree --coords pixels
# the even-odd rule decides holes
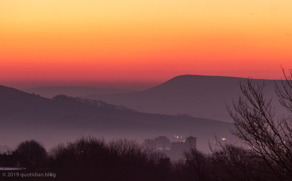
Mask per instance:
[[[266,165],[265,161],[260,158],[259,154],[252,149],[244,149],[234,144],[222,144],[216,138],[216,147],[212,149],[211,159],[213,160],[212,174],[221,180],[238,180],[238,181],[268,181],[277,180],[271,169]]]

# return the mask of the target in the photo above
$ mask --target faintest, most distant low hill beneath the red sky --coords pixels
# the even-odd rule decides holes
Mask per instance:
[[[96,88],[96,87],[84,87],[84,86],[47,86],[47,87],[34,87],[23,90],[27,93],[39,94],[43,97],[52,99],[55,95],[68,95],[72,97],[80,97],[84,95],[92,94],[114,94],[114,93],[126,93],[135,92],[134,90],[123,90],[113,88]]]

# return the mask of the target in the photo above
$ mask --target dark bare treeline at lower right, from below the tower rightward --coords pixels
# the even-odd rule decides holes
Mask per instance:
[[[184,151],[186,161],[180,163],[180,168],[185,180],[289,180],[289,176],[284,175],[283,170],[279,169],[277,165],[268,165],[266,160],[251,149],[244,149],[233,144],[219,143],[218,145],[219,148],[211,149],[211,154],[192,148]]]

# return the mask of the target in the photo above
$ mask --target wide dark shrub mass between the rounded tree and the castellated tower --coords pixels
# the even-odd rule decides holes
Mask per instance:
[[[51,168],[59,170],[64,180],[165,180],[169,173],[165,154],[127,139],[106,143],[82,137],[53,147],[49,158]]]

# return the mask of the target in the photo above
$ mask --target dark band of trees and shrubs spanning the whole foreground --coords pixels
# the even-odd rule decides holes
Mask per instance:
[[[182,152],[184,159],[170,161],[166,154],[127,139],[106,142],[91,136],[81,137],[49,151],[30,140],[10,150],[12,155],[4,155],[4,158],[13,156],[18,165],[1,164],[3,155],[0,155],[0,166],[20,166],[27,168],[27,173],[55,175],[54,178],[24,178],[27,180],[290,180],[283,169],[252,149],[220,142],[217,146],[210,147],[209,154],[190,147]]]

